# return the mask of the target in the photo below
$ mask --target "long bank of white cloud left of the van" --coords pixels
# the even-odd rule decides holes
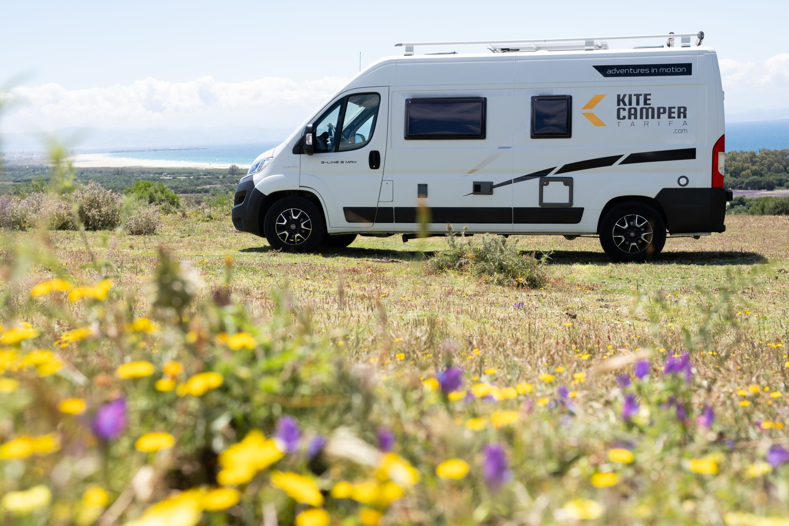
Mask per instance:
[[[189,124],[295,125],[348,79],[327,76],[296,82],[266,77],[218,82],[203,76],[188,82],[147,78],[129,85],[68,90],[59,84],[19,86],[6,95],[4,128],[57,129],[65,126],[139,127]],[[283,114],[282,110],[291,111]],[[294,114],[295,113],[295,114]],[[268,122],[260,122],[258,119]],[[21,130],[19,130],[21,131]]]

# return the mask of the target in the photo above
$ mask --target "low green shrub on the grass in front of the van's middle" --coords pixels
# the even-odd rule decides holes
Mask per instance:
[[[428,259],[428,269],[433,272],[456,270],[484,278],[496,285],[513,285],[537,289],[547,281],[541,259],[522,255],[518,240],[484,234],[479,243],[466,239],[466,228],[458,238],[447,224],[447,250],[437,252]]]

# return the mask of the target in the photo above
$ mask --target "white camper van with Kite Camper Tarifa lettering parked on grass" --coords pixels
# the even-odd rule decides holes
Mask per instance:
[[[432,233],[599,236],[619,261],[724,232],[724,92],[703,38],[398,44],[255,160],[234,226],[308,252],[407,241],[426,206]],[[414,52],[428,45],[442,52]]]

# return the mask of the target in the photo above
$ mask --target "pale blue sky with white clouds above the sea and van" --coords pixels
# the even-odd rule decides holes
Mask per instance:
[[[360,53],[365,67],[402,54],[398,42],[699,30],[717,50],[727,114],[769,115],[789,108],[787,19],[785,0],[4,2],[0,131],[292,129],[358,72]]]

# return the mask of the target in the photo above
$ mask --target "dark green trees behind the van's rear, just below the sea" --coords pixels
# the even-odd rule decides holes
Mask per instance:
[[[737,190],[774,190],[789,183],[789,150],[729,151],[724,186]]]

